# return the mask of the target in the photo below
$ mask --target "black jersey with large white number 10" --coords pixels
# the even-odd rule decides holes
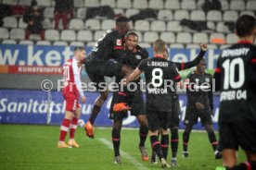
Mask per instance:
[[[214,78],[220,90],[219,122],[256,120],[256,47],[238,42],[219,56]]]

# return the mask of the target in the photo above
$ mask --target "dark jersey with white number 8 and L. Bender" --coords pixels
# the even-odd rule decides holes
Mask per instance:
[[[170,112],[172,110],[171,91],[174,90],[173,81],[181,79],[174,63],[156,55],[143,60],[138,69],[144,71],[146,77],[147,110]]]

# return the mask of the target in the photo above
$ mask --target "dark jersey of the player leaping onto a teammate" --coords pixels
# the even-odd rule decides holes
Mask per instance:
[[[107,30],[96,42],[87,60],[106,61],[123,54],[122,35],[118,30]]]

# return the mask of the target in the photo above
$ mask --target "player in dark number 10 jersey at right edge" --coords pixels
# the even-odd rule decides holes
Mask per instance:
[[[220,90],[219,132],[224,166],[216,169],[256,169],[256,19],[237,19],[239,41],[224,49],[217,61],[214,78]],[[237,165],[241,147],[247,162]]]

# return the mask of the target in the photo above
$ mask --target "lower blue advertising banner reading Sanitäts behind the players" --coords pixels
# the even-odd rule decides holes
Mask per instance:
[[[87,92],[86,103],[82,105],[81,119],[87,121],[93,104],[95,103],[97,92]],[[109,119],[109,107],[112,94],[109,94],[107,102],[103,105],[100,114],[96,118],[96,127],[110,127],[112,121]],[[180,127],[184,128],[183,120],[186,113],[186,95],[179,96],[181,105]],[[219,96],[214,96],[214,116],[213,127],[217,129],[219,115]],[[20,90],[0,90],[0,123],[11,124],[51,124],[60,125],[65,113],[65,103],[62,93],[59,91],[20,91]],[[124,119],[123,127],[135,128],[138,123],[134,116],[129,115]],[[198,122],[196,129],[201,129]]]

